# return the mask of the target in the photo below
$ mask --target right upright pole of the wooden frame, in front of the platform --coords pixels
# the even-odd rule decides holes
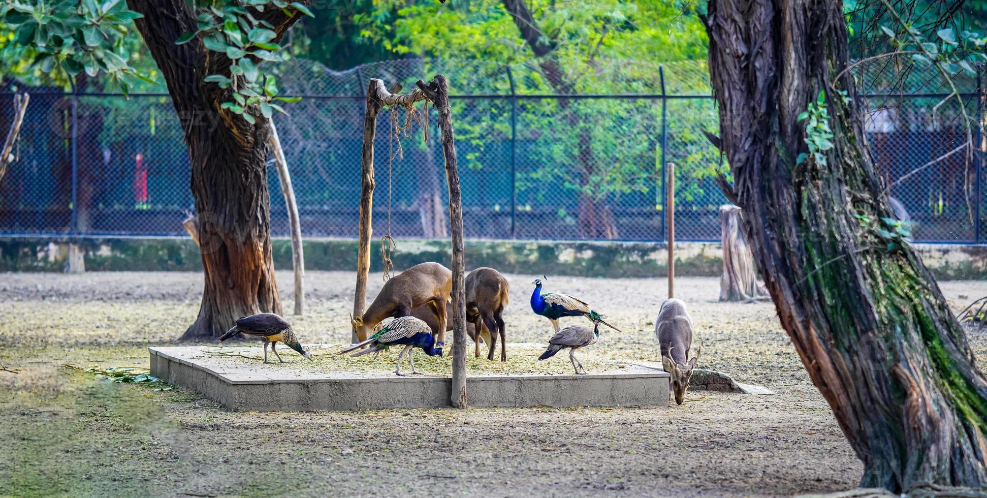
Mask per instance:
[[[438,128],[445,155],[445,179],[449,184],[449,223],[452,229],[452,392],[450,401],[456,408],[467,406],[466,397],[466,261],[463,247],[463,198],[456,166],[456,141],[449,117],[449,87],[445,76],[432,77],[418,88],[438,110]]]

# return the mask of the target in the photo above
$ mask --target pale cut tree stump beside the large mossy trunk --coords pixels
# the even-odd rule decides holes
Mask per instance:
[[[721,301],[746,301],[766,292],[757,283],[754,257],[740,230],[740,207],[720,207],[720,230],[723,244],[723,276],[720,280]]]

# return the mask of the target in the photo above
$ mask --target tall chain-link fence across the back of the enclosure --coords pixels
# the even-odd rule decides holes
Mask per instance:
[[[279,85],[304,99],[274,121],[306,237],[356,236],[369,78],[413,88],[416,79],[444,72],[453,87],[467,237],[664,240],[662,165],[672,162],[676,238],[720,238],[718,208],[726,201],[715,177],[725,165],[703,133],[718,128],[703,62],[625,64],[620,85],[597,85],[590,90],[599,93],[585,95],[555,95],[537,70],[519,66],[404,59],[335,72],[293,64]],[[942,91],[866,96],[874,159],[915,221],[917,240],[987,241],[980,229],[987,218],[982,155],[960,151],[937,160],[968,131],[983,143],[979,126],[967,125],[983,119],[983,85],[979,77],[967,79],[965,122]],[[194,208],[189,157],[167,95],[31,93],[17,162],[0,180],[0,235],[185,234],[182,221]],[[12,95],[0,95],[0,102],[6,130]],[[386,229],[390,212],[396,237],[447,236],[434,115],[428,141],[417,126],[413,136],[400,137],[404,154],[395,157],[391,112],[401,120],[405,113],[378,119],[376,232]],[[195,125],[215,125],[208,120]],[[268,183],[272,232],[283,237],[288,221],[274,168]]]

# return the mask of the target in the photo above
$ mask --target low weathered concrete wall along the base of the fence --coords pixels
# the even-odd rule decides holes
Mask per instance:
[[[373,242],[371,254],[380,254]],[[87,239],[78,242],[87,271],[200,271],[198,247],[190,239]],[[291,269],[291,244],[272,242],[274,266]],[[925,264],[939,279],[987,279],[987,245],[917,244]],[[0,271],[62,272],[69,249],[48,239],[0,238]],[[715,242],[675,244],[675,271],[681,276],[720,276],[722,249]],[[664,277],[664,243],[486,241],[466,243],[467,267],[489,266],[505,273],[539,273],[580,277]],[[449,243],[441,240],[399,239],[393,260],[404,269],[425,261],[449,265]],[[381,271],[380,258],[370,259]],[[356,269],[356,241],[305,241],[307,270]]]

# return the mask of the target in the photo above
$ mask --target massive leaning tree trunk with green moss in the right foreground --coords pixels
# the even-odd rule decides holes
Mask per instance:
[[[921,259],[886,236],[891,209],[852,75],[834,80],[848,65],[842,8],[709,4],[721,145],[744,228],[782,325],[864,461],[861,485],[983,487],[987,380]],[[823,89],[833,146],[799,162],[797,117]]]

